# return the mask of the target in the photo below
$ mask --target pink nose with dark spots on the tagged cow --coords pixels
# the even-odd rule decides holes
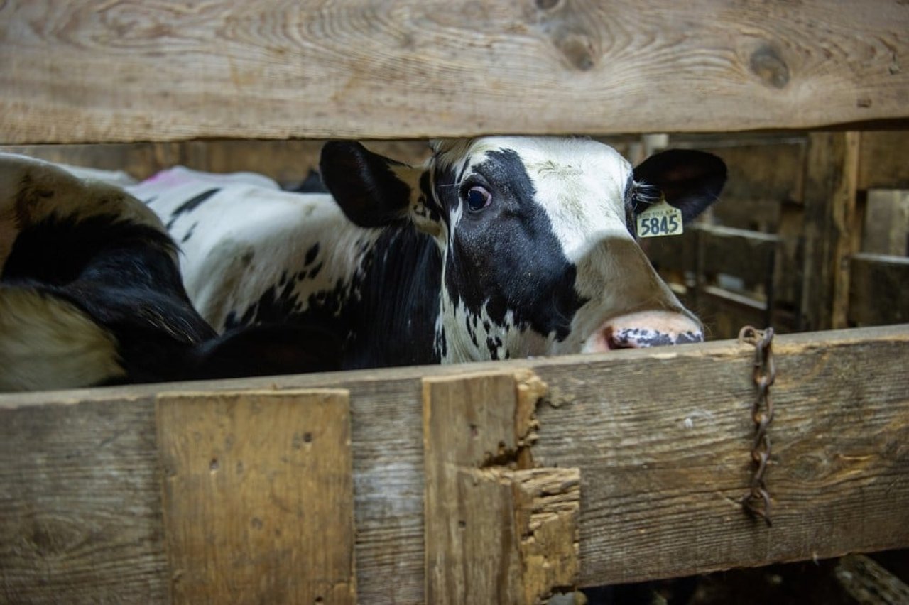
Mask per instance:
[[[605,322],[584,342],[582,351],[604,352],[703,341],[701,325],[682,313],[641,311]]]

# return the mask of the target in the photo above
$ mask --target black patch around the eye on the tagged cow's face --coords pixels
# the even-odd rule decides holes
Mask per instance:
[[[439,174],[436,190],[448,213],[459,195],[482,185],[493,199],[477,213],[464,211],[454,225],[445,267],[445,286],[454,304],[460,299],[479,316],[503,325],[514,313],[520,328],[564,340],[574,313],[586,302],[574,291],[576,268],[569,263],[520,155],[504,149],[486,154],[462,182]]]

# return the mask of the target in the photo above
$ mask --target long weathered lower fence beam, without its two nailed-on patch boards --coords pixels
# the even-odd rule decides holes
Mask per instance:
[[[0,594],[165,600],[155,397],[341,388],[350,392],[358,598],[423,602],[424,381],[524,369],[547,385],[534,464],[580,471],[582,585],[909,547],[909,324],[778,336],[774,356],[772,527],[739,506],[751,473],[754,352],[734,341],[5,395]],[[124,531],[126,521],[137,524]]]

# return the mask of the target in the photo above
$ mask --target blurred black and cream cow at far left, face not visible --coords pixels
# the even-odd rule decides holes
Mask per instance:
[[[177,248],[113,184],[0,154],[0,391],[333,370],[302,325],[222,335],[195,312]]]

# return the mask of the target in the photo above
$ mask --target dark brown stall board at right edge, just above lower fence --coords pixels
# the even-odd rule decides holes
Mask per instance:
[[[909,321],[909,258],[854,254],[849,321],[854,325],[884,325]]]

